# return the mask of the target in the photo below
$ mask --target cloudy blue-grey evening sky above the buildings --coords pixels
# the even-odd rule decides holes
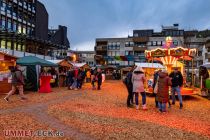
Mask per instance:
[[[210,29],[210,0],[40,0],[49,28],[68,27],[71,49],[93,50],[96,38],[126,37],[133,29]]]

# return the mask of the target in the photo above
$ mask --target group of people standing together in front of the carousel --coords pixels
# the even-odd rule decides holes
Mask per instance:
[[[134,95],[136,109],[139,109],[139,94],[142,96],[142,109],[146,107],[146,93],[145,93],[145,74],[141,67],[134,67],[128,72],[125,78],[125,84],[128,90],[127,106],[133,107]],[[155,94],[155,105],[160,112],[166,112],[166,104],[170,103],[169,89],[171,87],[172,105],[175,104],[177,93],[180,103],[180,109],[183,108],[182,95],[180,87],[183,85],[183,76],[177,68],[168,75],[168,72],[164,70],[156,70],[153,79],[153,94]]]

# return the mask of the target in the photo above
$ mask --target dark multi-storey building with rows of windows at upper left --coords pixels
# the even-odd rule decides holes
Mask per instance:
[[[53,50],[65,48],[57,39],[48,39],[48,13],[38,0],[1,0],[0,7],[0,49],[18,57],[49,59]]]

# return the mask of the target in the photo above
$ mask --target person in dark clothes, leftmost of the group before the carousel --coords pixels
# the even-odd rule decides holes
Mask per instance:
[[[132,73],[133,69],[131,69],[126,75],[126,87],[128,90],[128,97],[127,97],[127,107],[132,107],[133,102],[133,83],[132,83]]]

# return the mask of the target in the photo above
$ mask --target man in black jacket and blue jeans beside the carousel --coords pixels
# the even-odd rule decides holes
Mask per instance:
[[[180,91],[180,87],[183,85],[183,76],[180,71],[178,71],[178,68],[174,68],[174,71],[169,75],[169,77],[172,78],[172,104],[175,105],[175,92],[178,95],[179,98],[179,105],[180,109],[183,108],[183,103],[182,103],[182,95]]]

